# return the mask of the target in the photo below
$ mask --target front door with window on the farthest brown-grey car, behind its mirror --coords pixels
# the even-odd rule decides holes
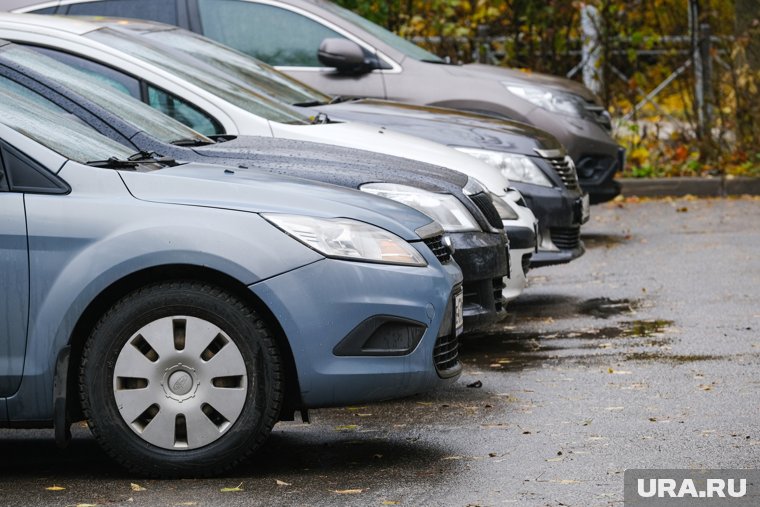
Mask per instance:
[[[190,5],[191,16],[197,16],[197,22],[191,23],[194,29],[317,90],[343,97],[385,97],[380,72],[341,75],[319,62],[317,50],[324,39],[360,41],[311,13],[270,1],[190,0]],[[362,49],[367,57],[376,58],[372,48],[362,45]]]

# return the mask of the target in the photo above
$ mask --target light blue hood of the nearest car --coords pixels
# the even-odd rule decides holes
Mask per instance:
[[[150,202],[252,213],[343,217],[386,229],[407,241],[432,220],[408,206],[356,190],[313,181],[241,171],[211,164],[183,164],[149,173],[120,172],[129,192]]]

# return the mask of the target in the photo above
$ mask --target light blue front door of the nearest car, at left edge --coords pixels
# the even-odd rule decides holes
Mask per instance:
[[[26,351],[29,254],[24,194],[11,191],[18,165],[17,154],[0,142],[0,397],[18,389]]]

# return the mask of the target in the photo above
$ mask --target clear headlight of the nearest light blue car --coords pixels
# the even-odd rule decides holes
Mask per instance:
[[[265,213],[283,232],[326,257],[405,266],[427,266],[412,245],[374,225],[348,218]]]

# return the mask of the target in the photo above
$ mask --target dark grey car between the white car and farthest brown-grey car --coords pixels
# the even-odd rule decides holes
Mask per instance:
[[[123,18],[98,18],[97,23],[130,30],[188,53],[256,93],[294,106],[308,106],[308,114],[316,110],[331,119],[375,124],[475,156],[507,177],[538,218],[541,243],[531,266],[569,262],[584,252],[580,235],[581,225],[589,218],[588,194],[582,192],[573,161],[564,147],[544,131],[452,109],[340,100],[245,54],[172,25]],[[513,239],[518,242],[517,237]]]

